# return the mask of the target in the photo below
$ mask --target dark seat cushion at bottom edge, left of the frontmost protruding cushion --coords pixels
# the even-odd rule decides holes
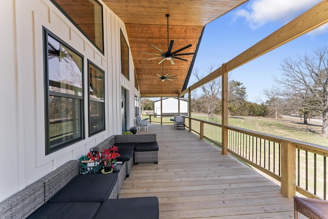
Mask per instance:
[[[51,202],[27,218],[93,218],[101,202]]]

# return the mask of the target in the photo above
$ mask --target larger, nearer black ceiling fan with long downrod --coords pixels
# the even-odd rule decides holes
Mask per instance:
[[[180,59],[180,60],[183,60],[183,61],[188,61],[185,58],[180,58],[180,57],[177,57],[177,56],[180,56],[180,55],[193,55],[193,54],[195,54],[194,52],[179,53],[178,54],[178,52],[181,52],[182,50],[185,50],[185,49],[191,47],[192,46],[191,44],[189,44],[189,45],[187,45],[185,47],[182,47],[181,49],[178,49],[178,50],[172,52],[172,47],[173,47],[174,41],[171,40],[170,43],[169,43],[169,16],[170,16],[170,14],[166,14],[166,17],[168,18],[168,51],[167,52],[164,52],[163,50],[159,49],[155,45],[151,44],[152,47],[154,47],[155,49],[157,49],[158,51],[160,51],[162,54],[142,52],[142,53],[146,53],[146,54],[159,55],[158,57],[148,58],[146,60],[151,60],[151,59],[156,59],[156,58],[162,58],[162,60],[158,64],[161,64],[164,60],[170,60],[171,64],[174,65],[174,61],[173,61],[172,58],[177,58],[177,59]]]

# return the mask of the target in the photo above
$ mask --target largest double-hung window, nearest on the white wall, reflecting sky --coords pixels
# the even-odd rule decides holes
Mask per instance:
[[[83,139],[83,56],[44,28],[46,154]]]

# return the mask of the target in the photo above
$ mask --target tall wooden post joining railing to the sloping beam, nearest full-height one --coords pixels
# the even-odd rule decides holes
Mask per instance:
[[[228,72],[226,63],[222,64],[222,154],[228,154]]]

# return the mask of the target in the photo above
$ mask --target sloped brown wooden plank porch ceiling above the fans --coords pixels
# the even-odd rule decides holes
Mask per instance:
[[[188,84],[196,55],[183,55],[187,62],[175,59],[175,64],[165,60],[158,65],[161,58],[146,61],[158,55],[142,52],[160,53],[150,44],[164,52],[168,51],[167,17],[169,17],[169,39],[174,40],[172,51],[192,44],[180,53],[196,51],[202,29],[214,19],[231,11],[247,0],[177,0],[177,1],[103,1],[126,25],[130,49],[135,66],[141,96],[178,96],[183,85]],[[161,81],[159,75],[173,76],[173,81]],[[186,88],[186,87],[185,87]]]

